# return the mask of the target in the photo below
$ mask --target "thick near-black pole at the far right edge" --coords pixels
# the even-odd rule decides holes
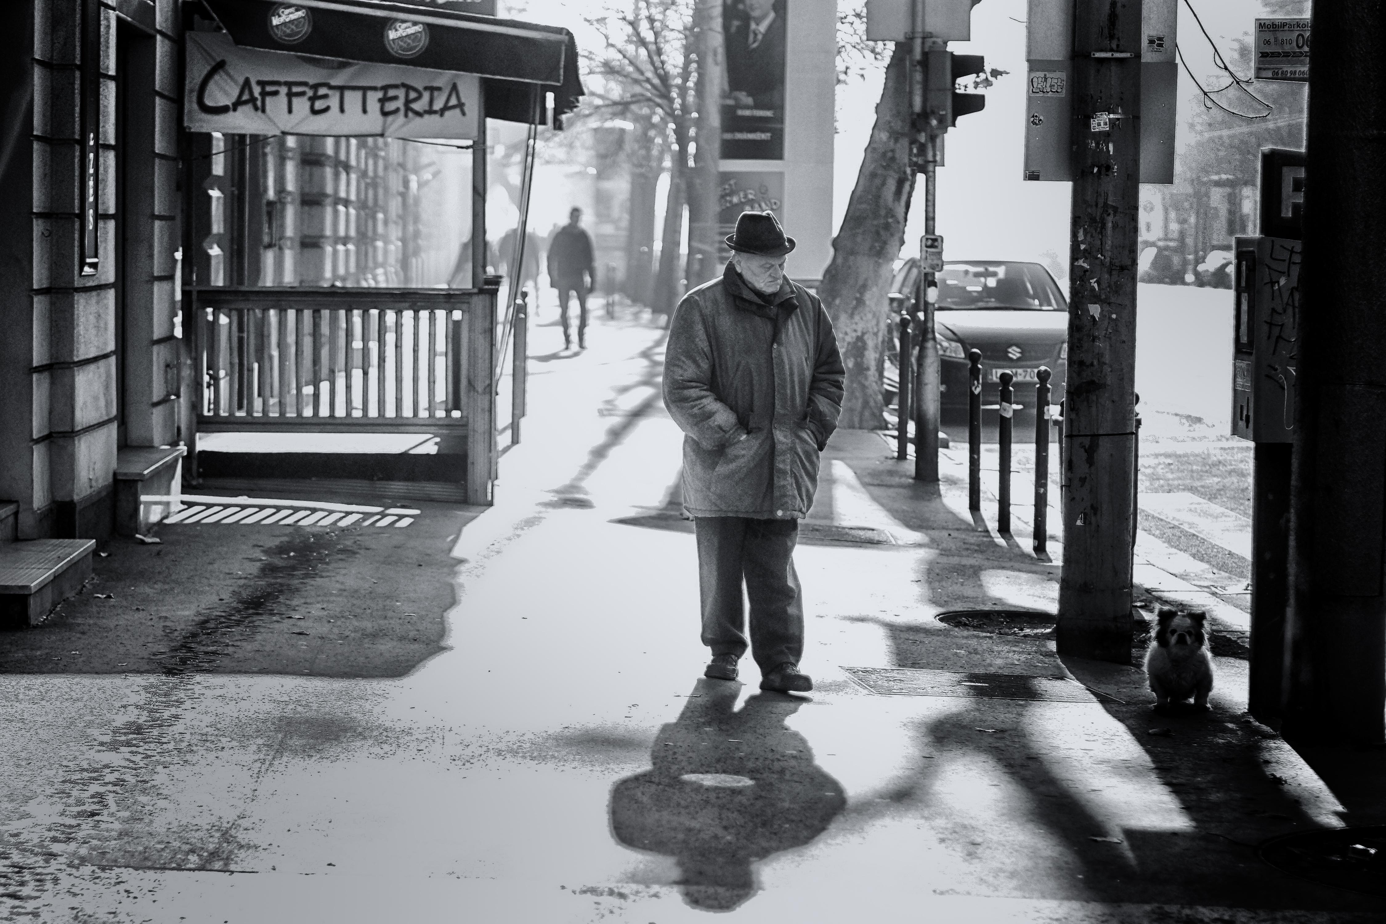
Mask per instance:
[[[1386,6],[1315,3],[1311,30],[1282,730],[1372,745],[1386,737]]]

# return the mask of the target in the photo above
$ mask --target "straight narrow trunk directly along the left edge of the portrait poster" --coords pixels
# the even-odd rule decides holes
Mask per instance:
[[[687,180],[689,288],[717,276],[718,162],[722,147],[722,0],[697,0],[697,151]]]

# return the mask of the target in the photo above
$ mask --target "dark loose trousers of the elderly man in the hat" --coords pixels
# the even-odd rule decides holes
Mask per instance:
[[[703,644],[714,655],[751,655],[762,672],[804,654],[804,601],[794,571],[797,519],[697,517]],[[751,603],[746,637],[742,582]]]

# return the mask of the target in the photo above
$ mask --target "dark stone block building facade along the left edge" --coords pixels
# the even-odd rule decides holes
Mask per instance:
[[[177,11],[0,10],[0,500],[21,539],[108,535],[119,453],[182,438]]]

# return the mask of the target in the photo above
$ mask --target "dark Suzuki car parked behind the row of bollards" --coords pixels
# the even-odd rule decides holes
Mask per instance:
[[[1040,263],[945,263],[938,278],[934,332],[944,409],[967,406],[967,352],[981,350],[981,403],[1001,400],[1001,373],[1015,375],[1016,403],[1033,409],[1041,366],[1053,371],[1051,402],[1063,398],[1069,359],[1069,303]],[[915,292],[919,260],[904,260],[893,292]],[[895,370],[888,368],[887,377]],[[890,382],[893,387],[894,382]]]

